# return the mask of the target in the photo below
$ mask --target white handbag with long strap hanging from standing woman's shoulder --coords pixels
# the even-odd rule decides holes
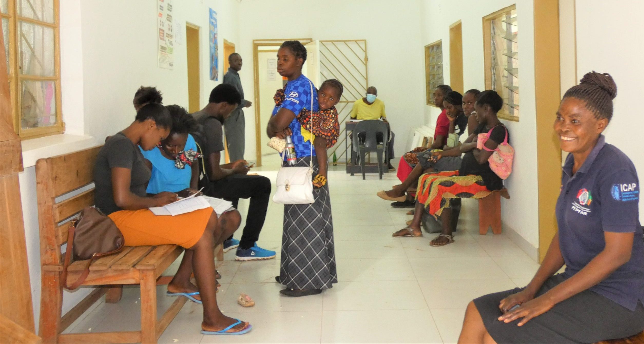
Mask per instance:
[[[313,84],[308,81],[311,88],[311,137],[313,137]],[[297,114],[296,114],[297,115]],[[286,149],[284,149],[286,151]],[[283,154],[280,154],[282,164]],[[311,204],[313,198],[313,142],[311,142],[310,165],[308,167],[279,167],[277,190],[273,195],[273,202],[277,204]]]

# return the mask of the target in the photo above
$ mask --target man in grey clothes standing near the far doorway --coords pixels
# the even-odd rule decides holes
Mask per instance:
[[[244,153],[245,120],[243,117],[243,108],[248,108],[252,105],[252,102],[243,99],[242,81],[240,80],[239,74],[239,71],[242,70],[242,56],[238,53],[231,53],[228,57],[228,62],[230,67],[228,68],[228,72],[223,75],[223,83],[231,84],[242,95],[242,103],[223,122],[228,155],[231,161],[237,161],[243,160]]]

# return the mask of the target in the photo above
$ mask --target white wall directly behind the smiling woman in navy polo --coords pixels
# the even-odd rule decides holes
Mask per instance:
[[[577,79],[587,72],[609,73],[617,84],[614,117],[604,134],[607,142],[621,149],[644,172],[644,155],[638,131],[644,127],[639,108],[644,65],[644,2],[576,1]],[[612,20],[618,19],[618,20]],[[644,220],[644,202],[639,202]]]

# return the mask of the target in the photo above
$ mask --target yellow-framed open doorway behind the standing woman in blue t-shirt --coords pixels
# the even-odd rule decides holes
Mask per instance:
[[[281,75],[277,72],[277,52],[284,41],[292,39],[260,39],[252,42],[253,48],[253,71],[255,99],[255,147],[256,166],[262,166],[265,162],[275,162],[279,166],[279,158],[274,149],[266,146],[269,138],[265,134],[275,103],[273,95],[275,91],[283,87]],[[307,44],[312,39],[297,39],[302,44]],[[303,70],[304,73],[304,70]]]

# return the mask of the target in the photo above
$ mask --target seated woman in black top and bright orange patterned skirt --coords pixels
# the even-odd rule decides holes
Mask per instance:
[[[459,157],[465,153],[459,171],[439,173],[426,173],[419,178],[419,187],[416,193],[417,204],[412,224],[393,236],[422,236],[421,219],[423,208],[428,207],[430,215],[435,218],[440,216],[442,232],[431,240],[432,246],[444,246],[454,242],[452,231],[451,198],[481,198],[489,195],[491,191],[502,189],[503,180],[489,167],[488,158],[498,144],[504,142],[506,127],[498,120],[497,112],[503,106],[503,99],[495,91],[482,91],[477,95],[475,103],[478,127],[469,135],[464,144],[445,151],[432,153],[434,161],[442,157]],[[491,132],[490,132],[491,131]],[[490,132],[485,146],[491,151],[477,148],[478,134]],[[508,139],[509,140],[509,139]]]

